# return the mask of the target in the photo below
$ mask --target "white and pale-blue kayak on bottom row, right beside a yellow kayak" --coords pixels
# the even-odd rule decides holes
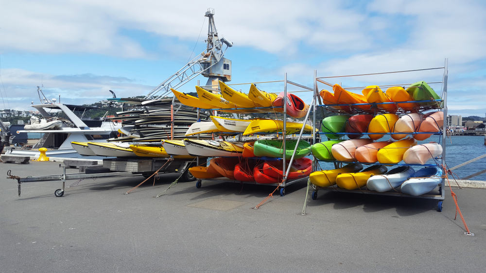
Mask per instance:
[[[366,188],[379,193],[388,192],[399,187],[405,180],[414,176],[415,170],[410,166],[400,166],[384,175],[373,175],[368,178]]]

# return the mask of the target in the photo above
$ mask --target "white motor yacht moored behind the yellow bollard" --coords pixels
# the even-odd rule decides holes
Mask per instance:
[[[40,87],[37,89],[39,97],[43,96]],[[48,157],[77,158],[80,154],[71,146],[71,142],[106,142],[110,137],[115,137],[120,123],[103,120],[81,119],[75,112],[80,115],[95,107],[69,105],[56,103],[53,99],[45,98],[41,100],[42,104],[32,105],[36,111],[43,117],[62,116],[58,118],[62,121],[61,128],[58,129],[23,129],[17,133],[39,133],[40,139],[30,149],[22,147],[5,147],[5,153],[11,155],[30,156],[38,158],[40,155],[39,148],[47,148]]]

